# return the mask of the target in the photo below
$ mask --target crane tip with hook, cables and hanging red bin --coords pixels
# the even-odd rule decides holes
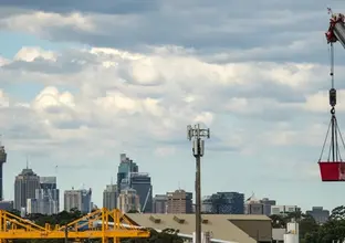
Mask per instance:
[[[328,13],[332,13],[332,10],[328,9]],[[322,152],[318,159],[320,173],[322,181],[345,181],[345,162],[342,159],[339,152],[338,141],[345,148],[344,139],[342,137],[341,130],[337,125],[337,119],[335,116],[335,105],[336,105],[336,89],[334,88],[334,46],[333,43],[341,42],[343,47],[345,47],[345,17],[344,14],[333,14],[330,19],[330,28],[326,32],[326,39],[328,44],[331,44],[331,81],[332,87],[330,89],[330,105],[331,105],[331,123],[328,126],[327,135],[322,148]],[[331,130],[331,145],[328,151],[327,160],[322,160],[325,145],[328,138]],[[339,139],[338,139],[339,138]]]

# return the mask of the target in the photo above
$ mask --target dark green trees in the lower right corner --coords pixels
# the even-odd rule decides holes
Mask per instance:
[[[300,223],[301,243],[330,243],[345,239],[345,207],[336,207],[332,210],[330,220],[318,225],[311,215],[302,212],[293,212],[285,216],[271,215],[272,228],[285,228],[291,219]],[[341,241],[343,242],[343,241]]]

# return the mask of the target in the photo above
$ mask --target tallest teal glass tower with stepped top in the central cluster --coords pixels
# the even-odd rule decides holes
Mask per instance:
[[[117,193],[121,192],[122,189],[130,188],[129,180],[127,180],[126,184],[122,183],[123,179],[128,179],[130,172],[138,172],[138,166],[129,159],[126,154],[119,155],[119,166],[117,171]],[[123,184],[123,186],[122,186]]]

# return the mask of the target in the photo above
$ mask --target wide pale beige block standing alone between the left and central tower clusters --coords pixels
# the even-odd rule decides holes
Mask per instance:
[[[71,211],[71,209],[77,209],[82,213],[91,212],[92,202],[91,202],[92,190],[65,190],[64,191],[64,210]]]

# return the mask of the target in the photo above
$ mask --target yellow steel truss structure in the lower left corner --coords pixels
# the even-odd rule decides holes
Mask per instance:
[[[117,209],[103,208],[66,225],[46,223],[44,228],[0,210],[0,243],[14,239],[102,239],[103,243],[113,239],[116,243],[124,237],[149,237],[149,231],[138,229]]]

